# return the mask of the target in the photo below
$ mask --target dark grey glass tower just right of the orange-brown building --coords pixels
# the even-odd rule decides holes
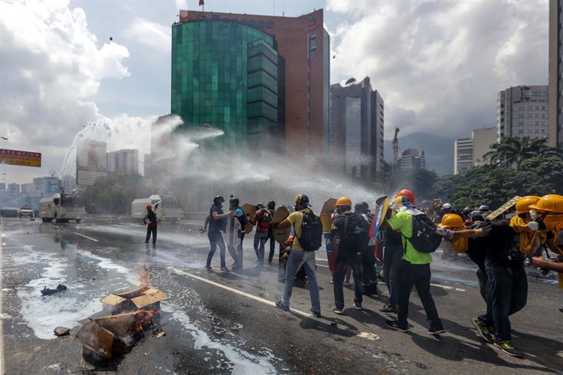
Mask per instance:
[[[330,87],[329,167],[374,182],[384,172],[384,103],[369,77]]]

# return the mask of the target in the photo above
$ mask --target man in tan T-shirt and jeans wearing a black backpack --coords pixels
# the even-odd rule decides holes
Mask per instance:
[[[295,198],[295,212],[286,220],[277,224],[275,228],[293,227],[293,243],[291,253],[286,265],[286,281],[284,284],[284,296],[276,302],[276,306],[282,310],[289,311],[289,299],[293,289],[294,279],[298,270],[303,267],[309,281],[309,294],[311,298],[311,310],[315,317],[321,316],[321,304],[319,286],[315,274],[315,250],[322,245],[322,224],[320,217],[312,212],[309,197],[299,194]],[[275,224],[274,224],[275,225]]]

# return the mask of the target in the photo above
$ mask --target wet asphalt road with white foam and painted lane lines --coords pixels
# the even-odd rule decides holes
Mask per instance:
[[[445,329],[426,333],[422,305],[413,292],[410,333],[387,329],[380,295],[366,298],[364,311],[345,292],[343,316],[331,312],[326,253],[317,251],[323,317],[308,314],[307,287],[294,288],[293,312],[281,298],[277,262],[256,267],[252,236],[245,239],[241,272],[204,269],[208,241],[190,224],[163,224],[156,248],[144,244],[144,227],[108,220],[42,224],[0,223],[0,369],[4,374],[562,374],[563,291],[553,275],[529,269],[528,305],[512,318],[517,359],[476,335],[471,319],[483,312],[474,266],[434,255],[432,293]],[[227,253],[227,265],[232,263]],[[219,267],[219,253],[213,259]],[[162,304],[166,336],[147,333],[127,355],[108,367],[82,358],[73,340],[87,317],[104,314],[100,299],[138,285],[146,276],[168,300]],[[68,290],[42,296],[44,286]],[[57,338],[56,326],[71,329]],[[367,337],[365,337],[367,336]]]

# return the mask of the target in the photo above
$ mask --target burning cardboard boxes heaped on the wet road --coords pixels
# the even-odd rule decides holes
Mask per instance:
[[[145,331],[160,324],[162,300],[167,300],[165,293],[149,286],[102,298],[102,303],[111,306],[111,315],[87,319],[75,337],[84,345],[84,359],[100,363],[129,352]]]

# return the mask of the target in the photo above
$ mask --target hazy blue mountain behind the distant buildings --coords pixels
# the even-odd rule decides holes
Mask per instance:
[[[454,141],[455,138],[424,132],[399,136],[399,156],[405,148],[422,148],[427,170],[434,170],[438,174],[452,174]],[[385,141],[384,156],[387,163],[393,160],[391,140]]]

